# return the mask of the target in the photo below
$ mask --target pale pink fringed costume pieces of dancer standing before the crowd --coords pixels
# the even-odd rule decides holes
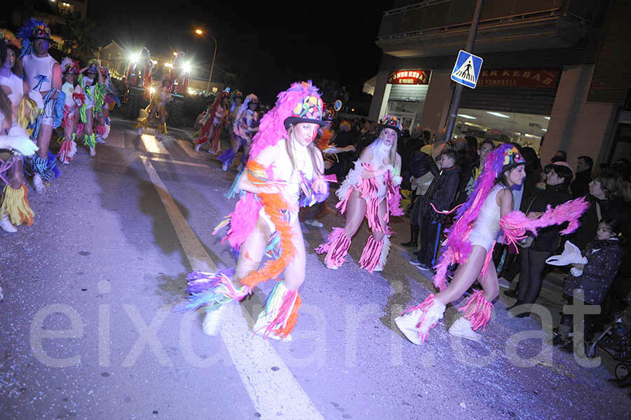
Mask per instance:
[[[386,117],[384,120],[387,121],[387,118],[391,117]],[[394,123],[397,123],[397,121]],[[386,123],[386,128],[391,128],[391,126]],[[371,144],[369,147],[374,147],[374,144]],[[396,144],[393,144],[392,147],[396,147]],[[360,198],[366,201],[365,217],[369,229],[384,233],[381,241],[376,241],[372,234],[368,236],[360,257],[360,267],[369,273],[372,273],[375,269],[381,270],[386,265],[391,246],[391,231],[388,222],[390,222],[391,216],[403,215],[403,210],[400,207],[401,194],[399,192],[401,177],[395,173],[392,167],[386,168],[382,181],[378,177],[369,179],[362,177],[366,170],[374,171],[376,169],[378,168],[372,168],[370,163],[355,161],[355,168],[348,172],[341,187],[336,191],[339,202],[335,205],[339,212],[344,215],[353,192],[358,191]],[[379,219],[379,205],[382,201],[386,202],[386,212],[383,219],[383,222],[386,224],[385,231]],[[337,268],[346,262],[345,257],[349,248],[351,248],[351,238],[346,236],[344,228],[335,227],[327,238],[327,242],[315,248],[315,252],[318,254],[326,253],[325,263],[327,267]]]

